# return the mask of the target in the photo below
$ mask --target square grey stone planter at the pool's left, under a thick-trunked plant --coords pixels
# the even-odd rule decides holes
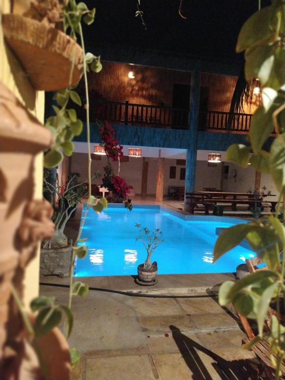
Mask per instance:
[[[43,276],[68,277],[72,257],[72,239],[66,248],[41,249],[40,274]]]

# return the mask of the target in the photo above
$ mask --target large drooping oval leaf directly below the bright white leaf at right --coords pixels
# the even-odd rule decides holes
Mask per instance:
[[[251,118],[249,137],[254,153],[259,153],[263,144],[268,137],[273,133],[272,112],[265,111],[263,106],[260,106]]]

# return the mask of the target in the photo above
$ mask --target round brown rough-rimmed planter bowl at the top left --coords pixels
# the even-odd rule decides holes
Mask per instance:
[[[21,61],[36,90],[61,90],[80,80],[83,50],[65,33],[52,25],[15,14],[3,14],[2,25],[9,47]]]

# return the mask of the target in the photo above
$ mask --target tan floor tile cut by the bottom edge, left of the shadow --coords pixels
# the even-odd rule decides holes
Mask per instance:
[[[86,380],[156,380],[155,374],[151,358],[147,355],[90,358],[86,361]]]

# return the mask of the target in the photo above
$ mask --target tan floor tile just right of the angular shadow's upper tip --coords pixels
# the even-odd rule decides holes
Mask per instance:
[[[198,332],[197,336],[201,343],[207,348],[238,348],[241,347],[241,340],[246,337],[241,330]]]

